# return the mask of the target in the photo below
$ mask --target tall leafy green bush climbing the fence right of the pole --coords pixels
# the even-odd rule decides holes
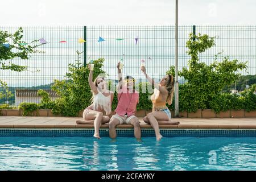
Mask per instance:
[[[236,81],[240,74],[237,71],[247,68],[246,63],[240,63],[238,60],[229,60],[224,57],[220,63],[217,62],[218,54],[212,64],[207,65],[199,62],[199,53],[203,53],[208,48],[214,46],[214,38],[208,35],[189,35],[187,41],[188,55],[191,59],[188,61],[189,68],[183,68],[179,71],[179,76],[184,77],[186,82],[179,86],[179,108],[181,111],[196,111],[197,109],[211,109],[215,111],[225,110],[226,106],[222,102],[232,102],[233,109],[243,107],[242,98],[238,96],[231,97],[230,101],[223,101],[228,95],[222,95],[221,90],[226,85]],[[167,74],[175,76],[175,67],[170,67]],[[234,104],[237,102],[237,104]],[[224,104],[225,105],[225,104]],[[221,108],[222,107],[222,108]]]

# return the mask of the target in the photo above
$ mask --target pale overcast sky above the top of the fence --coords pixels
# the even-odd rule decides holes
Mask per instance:
[[[175,24],[175,0],[0,0],[0,25]],[[180,0],[179,24],[256,24],[253,0]]]

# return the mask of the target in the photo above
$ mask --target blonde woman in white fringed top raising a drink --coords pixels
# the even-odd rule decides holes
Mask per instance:
[[[90,64],[88,64],[90,70]],[[114,93],[106,88],[104,77],[98,76],[92,81],[93,71],[89,73],[89,85],[92,89],[92,104],[82,113],[82,121],[77,120],[77,125],[94,125],[93,137],[100,139],[100,126],[109,122]]]

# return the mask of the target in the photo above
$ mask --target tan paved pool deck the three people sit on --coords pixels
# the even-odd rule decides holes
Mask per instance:
[[[0,129],[92,129],[93,125],[76,125],[77,117],[14,117],[0,116]],[[139,118],[142,129],[151,126]],[[160,129],[256,129],[256,118],[172,118],[179,125],[159,125]],[[108,129],[108,123],[101,125]],[[119,129],[133,128],[131,125],[118,125]]]

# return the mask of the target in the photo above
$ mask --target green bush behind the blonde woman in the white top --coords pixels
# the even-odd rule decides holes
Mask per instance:
[[[105,73],[101,68],[104,59],[94,60],[93,80],[100,74]],[[53,114],[64,116],[77,116],[79,111],[90,105],[90,86],[88,84],[89,69],[82,67],[79,60],[76,64],[69,64],[66,77],[68,80],[54,80],[52,90],[60,96],[54,101]]]

